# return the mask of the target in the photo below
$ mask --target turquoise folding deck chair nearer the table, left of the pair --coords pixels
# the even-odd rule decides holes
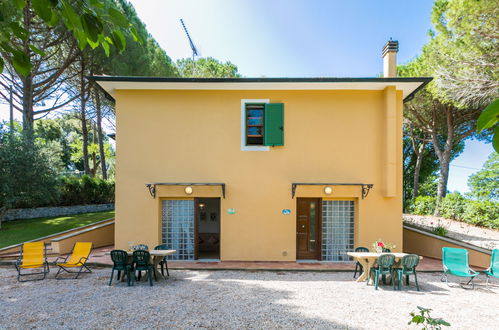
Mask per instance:
[[[449,285],[449,281],[447,279],[448,274],[459,277],[469,277],[470,280],[465,285],[469,285],[471,283],[472,289],[475,288],[473,279],[478,275],[478,273],[469,266],[468,250],[449,247],[442,248],[442,264],[444,267],[442,282],[445,280],[445,283]]]

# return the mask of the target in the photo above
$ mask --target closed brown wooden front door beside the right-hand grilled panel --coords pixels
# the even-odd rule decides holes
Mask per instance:
[[[321,199],[296,201],[296,259],[321,258]]]

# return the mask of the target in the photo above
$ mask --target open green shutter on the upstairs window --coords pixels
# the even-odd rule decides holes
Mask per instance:
[[[284,145],[284,104],[265,104],[263,144],[266,146]]]

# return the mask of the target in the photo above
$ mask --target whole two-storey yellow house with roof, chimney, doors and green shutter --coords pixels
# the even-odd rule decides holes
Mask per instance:
[[[90,77],[116,101],[115,245],[174,260],[402,250],[402,107],[431,78]]]

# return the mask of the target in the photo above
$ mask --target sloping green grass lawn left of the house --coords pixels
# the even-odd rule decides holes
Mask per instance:
[[[0,248],[112,217],[114,217],[114,211],[82,213],[56,218],[6,221],[2,223],[0,229]]]

